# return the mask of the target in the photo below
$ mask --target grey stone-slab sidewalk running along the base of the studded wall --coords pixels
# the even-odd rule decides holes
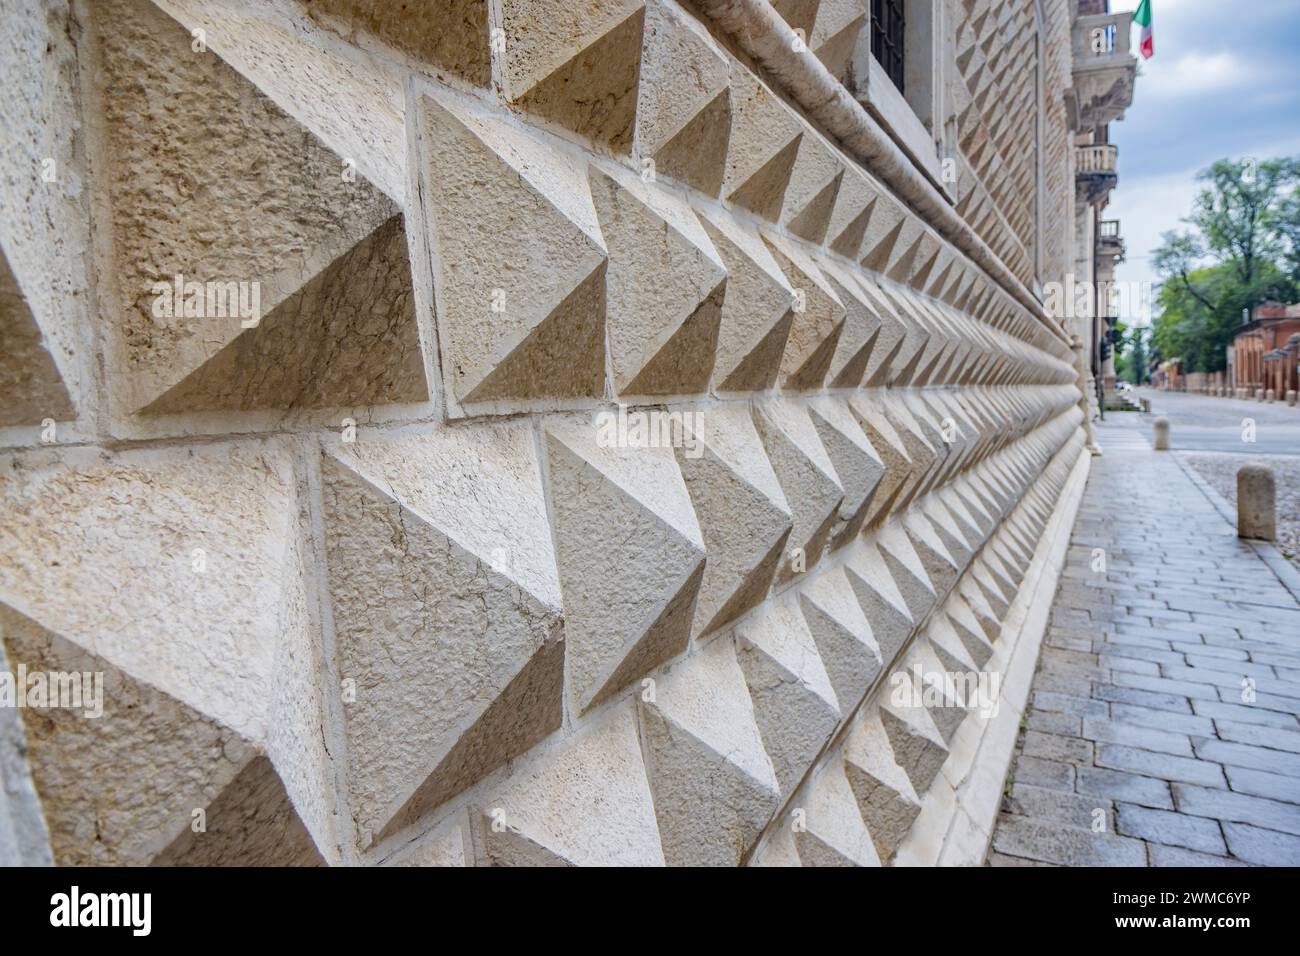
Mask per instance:
[[[1300,601],[1147,428],[1098,429],[992,865],[1300,865]]]

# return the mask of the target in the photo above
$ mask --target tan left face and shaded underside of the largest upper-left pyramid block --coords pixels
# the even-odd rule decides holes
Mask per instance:
[[[117,401],[147,414],[428,401],[394,200],[153,4],[107,0],[94,16],[104,82],[121,91],[104,114]]]

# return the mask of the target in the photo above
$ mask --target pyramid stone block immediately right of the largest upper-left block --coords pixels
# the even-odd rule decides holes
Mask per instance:
[[[499,120],[421,104],[451,397],[603,394],[606,252],[585,170]]]

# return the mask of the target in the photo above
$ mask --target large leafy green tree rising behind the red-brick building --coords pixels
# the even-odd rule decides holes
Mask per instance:
[[[1243,310],[1291,302],[1300,282],[1300,159],[1219,160],[1197,176],[1191,229],[1153,254],[1161,277],[1152,345],[1188,372],[1219,372]]]

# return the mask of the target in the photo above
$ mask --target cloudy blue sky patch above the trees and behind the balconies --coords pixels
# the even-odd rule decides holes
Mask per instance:
[[[1102,215],[1127,247],[1118,281],[1156,281],[1150,252],[1210,163],[1300,155],[1300,0],[1152,0],[1152,14],[1156,55],[1139,57],[1134,103],[1110,127],[1119,185]]]

